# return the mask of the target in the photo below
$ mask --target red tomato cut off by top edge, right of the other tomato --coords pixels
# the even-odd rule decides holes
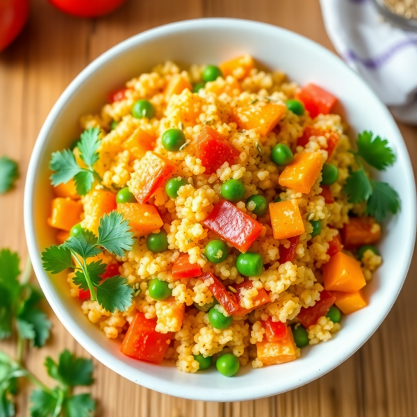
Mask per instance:
[[[97,17],[113,12],[125,0],[49,0],[56,8],[78,17]]]

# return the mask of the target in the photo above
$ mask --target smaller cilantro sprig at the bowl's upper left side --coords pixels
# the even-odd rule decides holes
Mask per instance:
[[[52,154],[49,168],[54,171],[50,177],[53,186],[74,179],[76,192],[79,195],[85,195],[91,190],[92,183],[95,181],[101,183],[102,179],[94,169],[94,165],[99,159],[97,152],[100,145],[99,136],[100,129],[98,127],[92,127],[81,133],[81,140],[79,140],[77,147],[85,167],[79,165],[70,149]]]

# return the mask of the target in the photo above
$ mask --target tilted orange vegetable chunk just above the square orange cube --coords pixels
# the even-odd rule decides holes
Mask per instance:
[[[295,154],[294,161],[281,172],[278,183],[280,186],[291,188],[297,193],[308,194],[320,176],[322,167],[323,160],[319,152]]]

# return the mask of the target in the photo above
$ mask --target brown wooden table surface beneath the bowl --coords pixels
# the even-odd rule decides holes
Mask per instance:
[[[31,2],[22,35],[0,54],[0,156],[19,161],[21,179],[0,197],[0,247],[27,253],[23,225],[24,177],[40,127],[61,92],[93,59],[118,42],[154,26],[197,17],[239,17],[268,22],[332,49],[318,0],[130,0],[97,20],[76,19],[47,3]],[[371,109],[370,109],[371,111]],[[400,124],[414,167],[417,129]],[[417,261],[395,306],[359,352],[300,389],[263,400],[216,403],[181,400],[149,391],[95,363],[91,392],[101,417],[414,417],[417,416]],[[396,277],[392,277],[396,279]],[[46,307],[47,308],[47,307]],[[89,356],[49,311],[53,335],[27,365],[45,382],[42,363],[65,347]],[[12,343],[2,343],[12,352]],[[278,370],[277,370],[278,372]],[[18,416],[27,415],[29,386],[22,387]]]

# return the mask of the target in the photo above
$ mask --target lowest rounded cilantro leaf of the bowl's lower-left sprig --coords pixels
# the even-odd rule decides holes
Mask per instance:
[[[113,313],[115,309],[124,311],[131,305],[133,288],[127,284],[126,278],[116,275],[102,281],[97,286],[97,302]]]

